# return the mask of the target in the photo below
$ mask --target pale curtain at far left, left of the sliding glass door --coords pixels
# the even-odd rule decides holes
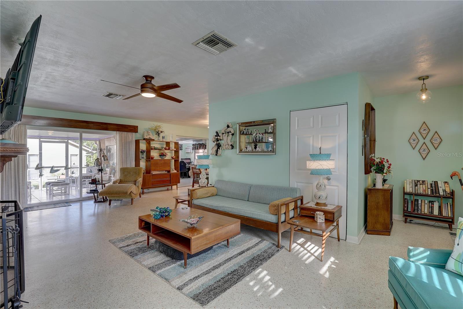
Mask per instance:
[[[27,144],[27,129],[18,124],[0,135],[1,138]],[[0,174],[1,200],[18,200],[24,206],[27,200],[27,155],[18,155],[5,164]]]

